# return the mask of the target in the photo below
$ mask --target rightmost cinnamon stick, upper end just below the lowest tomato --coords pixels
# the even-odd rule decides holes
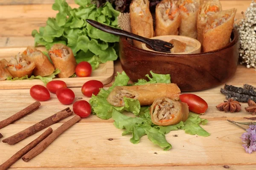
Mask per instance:
[[[52,132],[52,134],[50,134],[40,144],[38,144],[36,147],[34,147],[32,150],[30,150],[28,153],[26,153],[26,155],[24,155],[22,157],[22,160],[27,162],[30,159],[37,156],[39,153],[43,152],[49,146],[49,144],[51,144],[58,136],[61,135],[61,133],[63,133],[68,128],[70,128],[72,125],[74,125],[79,120],[81,120],[81,117],[76,115],[69,121],[65,122],[63,125],[61,125],[56,130],[54,130]]]

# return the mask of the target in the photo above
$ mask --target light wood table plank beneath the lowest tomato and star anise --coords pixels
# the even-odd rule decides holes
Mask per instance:
[[[208,103],[208,110],[204,115],[201,115],[201,117],[208,120],[232,119],[237,121],[247,120],[248,122],[250,122],[250,120],[245,118],[250,118],[254,116],[252,116],[250,113],[247,113],[244,110],[244,107],[247,107],[246,103],[241,103],[242,111],[239,113],[220,112],[215,108],[216,105],[223,102],[223,100],[225,99],[225,96],[219,92],[221,87],[222,86],[218,86],[216,88],[212,88],[207,91],[200,91],[200,92],[193,93],[193,94],[197,94],[198,96],[201,96]],[[85,97],[81,93],[81,88],[71,88],[71,89],[74,91],[76,95],[75,101],[80,99],[89,101],[90,98]],[[6,119],[7,117],[17,113],[18,111],[22,110],[23,108],[25,108],[26,106],[28,106],[29,104],[35,101],[30,96],[29,89],[0,90],[0,96],[1,96],[0,97],[0,106],[1,106],[0,120]],[[38,111],[35,111],[34,113],[24,117],[23,119],[20,119],[19,121],[15,122],[15,124],[36,123],[66,107],[70,107],[72,109],[72,104],[62,105],[58,101],[56,95],[51,94],[50,100],[41,102],[41,107],[38,109]],[[82,119],[81,122],[113,122],[113,120],[112,119],[102,120],[96,116],[91,115],[87,119]]]

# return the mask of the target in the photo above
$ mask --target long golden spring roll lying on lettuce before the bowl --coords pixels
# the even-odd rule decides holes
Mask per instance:
[[[152,105],[155,99],[168,97],[178,100],[180,88],[174,83],[155,83],[134,86],[116,86],[108,96],[108,102],[113,106],[125,105],[123,98],[138,99],[140,105]]]

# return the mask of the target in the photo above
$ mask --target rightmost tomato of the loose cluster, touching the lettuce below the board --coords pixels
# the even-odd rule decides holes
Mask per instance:
[[[89,80],[82,86],[82,93],[84,96],[91,97],[93,94],[97,95],[100,88],[103,88],[102,82],[98,80]]]

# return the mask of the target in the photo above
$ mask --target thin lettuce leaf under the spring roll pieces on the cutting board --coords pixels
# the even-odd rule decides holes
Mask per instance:
[[[53,73],[49,76],[46,76],[46,77],[41,77],[41,76],[31,76],[31,77],[28,77],[28,75],[26,76],[23,76],[23,77],[7,77],[7,80],[22,80],[22,79],[41,79],[42,82],[44,82],[44,85],[46,85],[48,82],[52,81],[52,78],[55,78],[55,76],[57,74],[59,74],[61,71],[57,68],[55,69],[55,71],[53,71]]]

